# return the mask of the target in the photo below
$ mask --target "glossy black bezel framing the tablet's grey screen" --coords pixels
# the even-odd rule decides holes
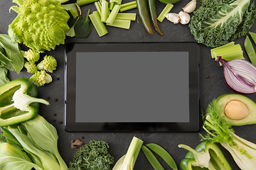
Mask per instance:
[[[188,123],[75,122],[76,52],[188,52]],[[181,64],[182,63],[177,63]],[[65,48],[65,130],[68,132],[196,132],[200,123],[200,49],[196,42],[68,43]],[[177,80],[178,81],[178,80]]]

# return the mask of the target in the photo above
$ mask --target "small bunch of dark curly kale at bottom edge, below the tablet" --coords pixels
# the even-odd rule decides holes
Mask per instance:
[[[107,142],[91,140],[75,152],[69,170],[110,170],[114,157],[108,153],[108,149]]]

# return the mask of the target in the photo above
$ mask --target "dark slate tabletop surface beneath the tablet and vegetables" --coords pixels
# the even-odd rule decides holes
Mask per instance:
[[[178,13],[182,10],[190,0],[181,0],[174,4],[171,12]],[[127,2],[124,0],[123,2]],[[1,0],[0,1],[0,33],[6,34],[9,24],[16,17],[16,13],[11,11],[9,13],[9,8],[13,5],[11,0]],[[165,4],[157,2],[158,14],[164,8]],[[198,1],[197,8],[200,6],[200,1]],[[82,16],[86,16],[87,10],[90,9],[91,12],[95,11],[96,8],[94,4],[89,4],[82,6]],[[128,12],[128,11],[127,11]],[[137,13],[137,8],[130,10],[129,12]],[[192,15],[192,14],[191,14]],[[138,15],[137,15],[138,16]],[[72,23],[70,19],[69,23]],[[108,34],[99,37],[96,30],[85,39],[69,38],[67,37],[65,43],[67,42],[194,42],[193,35],[190,33],[188,25],[181,25],[171,23],[164,19],[162,23],[159,23],[161,32],[164,36],[159,35],[154,31],[154,35],[149,35],[142,25],[142,21],[138,18],[137,21],[132,21],[131,28],[129,30],[124,30],[121,28],[114,28],[107,26]],[[256,32],[256,25],[251,29],[252,32]],[[243,42],[245,37],[238,38],[235,43],[240,43],[243,48]],[[210,57],[210,47],[206,45],[200,45],[201,47],[201,105],[203,111],[206,111],[208,103],[217,98],[222,94],[233,93],[228,86],[226,86],[223,79],[223,67],[220,67],[218,62],[215,62]],[[255,47],[255,46],[254,46]],[[22,50],[27,50],[24,45],[21,45]],[[38,87],[38,98],[45,98],[50,101],[50,106],[41,105],[40,115],[43,115],[49,123],[52,123],[58,130],[59,140],[58,147],[61,156],[68,164],[73,159],[74,149],[70,147],[70,141],[80,138],[85,144],[90,140],[105,140],[110,145],[110,154],[117,161],[123,154],[127,152],[129,143],[132,137],[135,135],[140,139],[144,140],[144,144],[154,142],[161,145],[166,149],[171,156],[176,161],[178,169],[180,168],[180,162],[185,157],[187,151],[185,149],[179,149],[178,144],[189,145],[195,148],[196,145],[200,143],[200,137],[198,133],[205,134],[205,131],[201,130],[199,132],[65,132],[63,128],[63,108],[64,108],[64,55],[65,55],[65,45],[59,45],[55,47],[55,50],[50,52],[45,52],[45,55],[53,55],[58,61],[57,70],[51,74],[53,77],[53,82],[46,84],[45,86]],[[44,55],[41,55],[41,58]],[[244,56],[246,60],[248,57],[244,50]],[[177,63],[182,64],[182,63]],[[31,77],[31,74],[23,69],[19,75],[16,72],[9,72],[9,79],[13,80],[18,77]],[[208,77],[208,78],[207,78]],[[58,78],[58,79],[57,79]],[[181,77],[182,79],[182,77]],[[178,83],[178,80],[176,80]],[[252,100],[256,101],[256,94],[245,95]],[[48,99],[50,98],[50,99]],[[55,115],[56,114],[56,115]],[[202,126],[202,123],[201,123]],[[246,140],[256,143],[256,125],[245,125],[242,127],[234,127],[236,134],[240,137],[244,137]],[[82,138],[82,139],[81,139]],[[43,140],[43,139],[42,139]],[[228,162],[233,169],[239,169],[238,166],[233,161],[233,158],[223,147],[220,147],[228,159]],[[165,169],[170,169],[166,164],[163,163]],[[134,169],[147,169],[153,170],[143,152],[139,154],[137,163]]]

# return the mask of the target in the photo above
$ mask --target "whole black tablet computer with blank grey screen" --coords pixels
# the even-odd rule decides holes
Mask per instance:
[[[195,42],[66,45],[68,132],[196,132],[199,105]]]

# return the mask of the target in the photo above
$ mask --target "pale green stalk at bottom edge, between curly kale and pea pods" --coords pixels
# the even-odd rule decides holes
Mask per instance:
[[[132,170],[136,163],[139,151],[142,148],[143,141],[137,137],[132,138],[132,142],[129,145],[127,154],[124,154],[117,163],[114,165],[112,170]]]

